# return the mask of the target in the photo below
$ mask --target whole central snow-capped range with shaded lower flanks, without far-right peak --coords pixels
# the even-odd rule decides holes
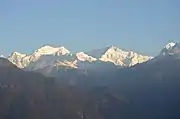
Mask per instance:
[[[137,63],[148,61],[151,58],[132,51],[125,51],[115,46],[97,49],[87,53],[77,52],[72,54],[63,46],[53,47],[48,45],[35,50],[32,54],[14,52],[8,57],[9,61],[21,69],[38,72],[46,71],[45,73],[67,68],[96,69],[95,65],[98,65],[97,67],[106,64],[107,66],[112,66],[109,63],[130,67]]]

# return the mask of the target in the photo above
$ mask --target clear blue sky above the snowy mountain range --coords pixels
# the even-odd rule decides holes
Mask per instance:
[[[0,53],[108,45],[156,55],[180,42],[179,0],[0,0]]]

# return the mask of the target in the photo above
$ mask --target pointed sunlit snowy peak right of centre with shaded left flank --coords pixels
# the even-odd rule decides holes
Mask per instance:
[[[150,60],[152,57],[143,56],[133,51],[126,51],[115,46],[94,50],[88,53],[104,62],[112,62],[119,66],[133,66]]]

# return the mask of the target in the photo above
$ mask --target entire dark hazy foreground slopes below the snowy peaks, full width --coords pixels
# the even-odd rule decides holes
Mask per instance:
[[[0,118],[179,119],[179,61],[163,56],[105,73],[66,72],[59,79],[1,65]]]

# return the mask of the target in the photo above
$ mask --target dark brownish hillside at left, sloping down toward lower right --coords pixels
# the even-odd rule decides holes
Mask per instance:
[[[107,119],[109,116],[105,114],[110,109],[115,110],[115,114],[124,110],[121,105],[126,101],[110,91],[100,90],[101,95],[94,95],[99,88],[94,88],[93,83],[90,86],[85,83],[83,88],[80,83],[69,85],[63,83],[63,77],[46,78],[0,60],[8,63],[0,66],[0,119]],[[85,87],[86,90],[82,90]],[[116,104],[118,108],[111,107]]]

